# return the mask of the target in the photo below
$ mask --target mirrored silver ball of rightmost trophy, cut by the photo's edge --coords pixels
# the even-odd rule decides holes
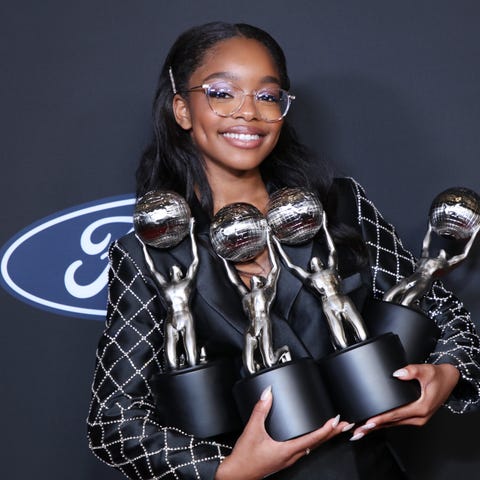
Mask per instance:
[[[429,220],[442,237],[470,238],[480,226],[480,196],[468,188],[449,188],[434,198]]]

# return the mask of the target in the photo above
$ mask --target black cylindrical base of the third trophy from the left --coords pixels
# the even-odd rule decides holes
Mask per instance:
[[[337,413],[348,422],[362,422],[420,395],[418,382],[392,376],[406,365],[400,339],[393,333],[339,350],[319,365]]]

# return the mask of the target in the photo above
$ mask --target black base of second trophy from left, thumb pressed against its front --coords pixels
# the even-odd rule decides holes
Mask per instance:
[[[305,358],[262,370],[235,384],[234,397],[244,423],[262,392],[270,385],[273,404],[265,427],[274,440],[289,440],[316,430],[337,414],[318,365]]]

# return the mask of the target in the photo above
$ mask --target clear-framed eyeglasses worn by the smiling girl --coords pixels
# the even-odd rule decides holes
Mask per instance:
[[[246,93],[230,82],[204,83],[192,87],[187,92],[204,92],[208,105],[220,117],[231,117],[245,102],[245,97],[253,97],[259,117],[265,122],[279,122],[288,112],[295,100],[286,90],[278,87],[266,87]]]

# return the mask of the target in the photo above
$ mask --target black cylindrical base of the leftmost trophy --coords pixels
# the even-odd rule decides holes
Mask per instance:
[[[151,384],[160,421],[200,438],[240,429],[232,395],[235,372],[233,361],[219,359],[155,375]]]

